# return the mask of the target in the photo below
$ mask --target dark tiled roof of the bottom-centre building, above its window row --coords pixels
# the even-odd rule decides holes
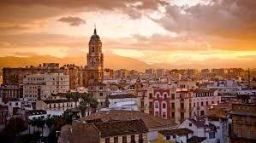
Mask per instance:
[[[92,123],[100,132],[101,137],[122,134],[146,133],[146,125],[142,120],[114,121],[106,123]]]

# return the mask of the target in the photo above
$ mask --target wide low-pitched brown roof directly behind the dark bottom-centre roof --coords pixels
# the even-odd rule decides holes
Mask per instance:
[[[120,111],[120,110],[110,110],[110,111],[100,111],[96,112],[88,117],[83,117],[83,120],[92,120],[100,118],[103,122],[109,122],[111,120],[135,120],[142,119],[146,124],[147,129],[163,129],[175,127],[176,123],[170,122],[160,117],[154,117],[144,112],[137,111]]]

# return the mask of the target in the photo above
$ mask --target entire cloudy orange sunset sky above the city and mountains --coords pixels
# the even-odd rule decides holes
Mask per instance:
[[[255,0],[1,0],[0,57],[104,54],[146,63],[256,66]]]

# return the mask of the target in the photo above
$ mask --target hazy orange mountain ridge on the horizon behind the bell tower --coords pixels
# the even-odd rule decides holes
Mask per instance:
[[[86,57],[64,57],[57,58],[49,55],[34,55],[29,57],[15,57],[7,56],[0,57],[0,69],[2,71],[3,67],[25,67],[25,66],[39,66],[39,64],[45,62],[57,62],[61,66],[65,64],[75,64],[77,66],[86,65]],[[138,71],[145,71],[146,68],[156,68],[158,66],[153,66],[146,64],[145,62],[133,58],[122,57],[118,55],[104,55],[104,68],[111,69],[135,69]]]

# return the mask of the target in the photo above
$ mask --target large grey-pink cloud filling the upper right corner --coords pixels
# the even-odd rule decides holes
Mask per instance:
[[[168,5],[162,18],[152,20],[168,31],[203,37],[216,49],[255,50],[255,7],[253,0]]]

